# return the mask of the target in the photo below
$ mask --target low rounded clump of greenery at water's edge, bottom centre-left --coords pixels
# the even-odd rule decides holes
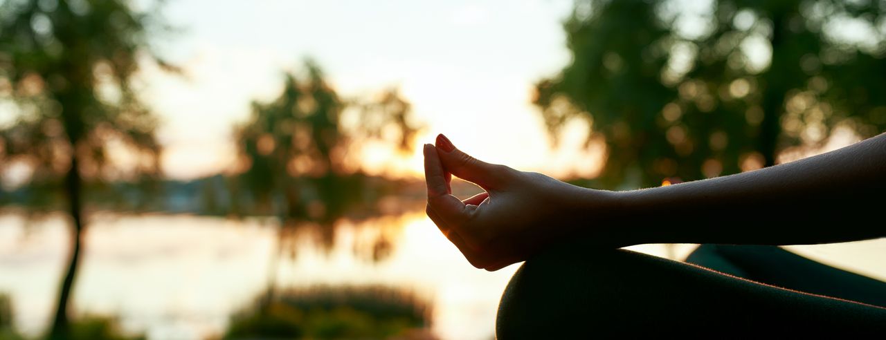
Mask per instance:
[[[430,317],[430,305],[406,291],[315,287],[285,291],[268,308],[246,308],[232,318],[224,337],[390,338],[429,328]]]

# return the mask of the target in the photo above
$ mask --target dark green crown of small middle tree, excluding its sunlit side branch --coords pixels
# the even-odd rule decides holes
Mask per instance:
[[[307,80],[287,73],[281,96],[271,103],[253,102],[250,120],[236,128],[245,167],[240,177],[258,213],[304,216],[308,207],[302,202],[301,177],[320,179],[342,169],[338,118],[345,104],[320,69],[306,65]],[[315,205],[312,215],[320,218],[322,210]]]

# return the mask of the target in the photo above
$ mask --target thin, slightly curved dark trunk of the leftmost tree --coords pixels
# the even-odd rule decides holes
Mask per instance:
[[[58,291],[58,306],[56,307],[55,318],[52,321],[52,328],[49,338],[51,340],[66,339],[68,337],[68,301],[71,298],[71,290],[74,287],[74,275],[77,271],[77,265],[80,264],[80,249],[82,244],[83,224],[82,219],[82,179],[80,172],[77,170],[77,157],[71,157],[71,169],[68,170],[65,179],[65,188],[70,202],[71,219],[74,221],[73,235],[71,238],[71,253],[68,257],[67,273],[61,282]]]

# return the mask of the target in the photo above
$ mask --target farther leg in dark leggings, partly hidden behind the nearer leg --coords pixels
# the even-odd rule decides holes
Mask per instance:
[[[886,307],[886,282],[830,267],[773,245],[702,244],[686,262],[790,290]]]

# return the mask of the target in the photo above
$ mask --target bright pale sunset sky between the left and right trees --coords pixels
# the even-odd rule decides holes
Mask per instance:
[[[231,128],[252,100],[270,100],[284,71],[313,58],[345,97],[399,87],[425,129],[411,157],[369,145],[370,174],[420,175],[421,143],[446,134],[473,156],[556,176],[592,175],[600,150],[582,150],[574,124],[551,151],[532,84],[570,61],[569,1],[170,1],[178,32],[155,37],[184,73],[144,66],[144,100],[162,120],[164,172],[188,179],[228,169]],[[375,149],[373,149],[375,148]]]

